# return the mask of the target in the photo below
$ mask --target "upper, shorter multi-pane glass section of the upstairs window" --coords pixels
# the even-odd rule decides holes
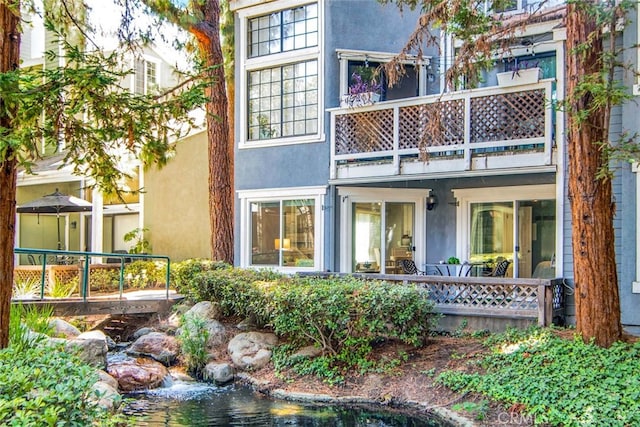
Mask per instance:
[[[249,58],[318,45],[318,5],[307,4],[249,20]]]

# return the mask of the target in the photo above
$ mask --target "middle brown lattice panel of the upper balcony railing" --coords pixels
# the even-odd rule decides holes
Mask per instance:
[[[400,149],[464,142],[464,101],[436,102],[400,108]]]

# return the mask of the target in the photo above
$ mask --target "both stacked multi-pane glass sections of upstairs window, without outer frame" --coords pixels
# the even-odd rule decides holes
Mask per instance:
[[[251,17],[247,35],[247,140],[317,134],[318,4]]]

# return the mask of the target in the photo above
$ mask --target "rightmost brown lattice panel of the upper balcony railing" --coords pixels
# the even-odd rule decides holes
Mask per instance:
[[[544,137],[544,89],[471,99],[471,142]]]

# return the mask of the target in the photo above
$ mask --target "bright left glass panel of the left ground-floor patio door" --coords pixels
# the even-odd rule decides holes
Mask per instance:
[[[352,205],[352,271],[379,273],[382,203],[356,202]]]

